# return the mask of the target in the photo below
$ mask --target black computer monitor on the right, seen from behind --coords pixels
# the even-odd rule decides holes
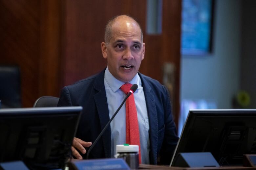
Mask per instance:
[[[190,110],[171,161],[183,152],[211,152],[221,166],[256,154],[256,110]]]

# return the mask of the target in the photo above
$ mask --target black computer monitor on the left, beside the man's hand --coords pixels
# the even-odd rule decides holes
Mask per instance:
[[[82,107],[0,109],[0,162],[65,168]]]

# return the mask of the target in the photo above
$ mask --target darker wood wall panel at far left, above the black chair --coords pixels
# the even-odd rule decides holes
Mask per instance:
[[[20,66],[24,107],[32,106],[32,93],[39,91],[39,8],[39,1],[0,1],[0,63]]]

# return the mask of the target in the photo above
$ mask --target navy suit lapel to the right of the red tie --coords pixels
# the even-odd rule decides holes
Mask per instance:
[[[149,86],[147,80],[139,73],[143,91],[145,95],[148,118],[149,118],[149,138],[150,138],[150,163],[157,164],[157,148],[158,148],[158,118],[154,92]]]

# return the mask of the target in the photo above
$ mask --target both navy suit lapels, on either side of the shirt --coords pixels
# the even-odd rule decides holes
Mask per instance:
[[[95,79],[94,89],[96,93],[94,94],[94,100],[99,115],[99,121],[101,130],[109,121],[109,112],[107,104],[107,96],[104,85],[104,73],[105,69],[99,73]],[[150,127],[150,162],[157,164],[157,148],[158,148],[158,118],[156,111],[156,103],[154,98],[154,92],[149,86],[148,82],[142,74],[139,73],[141,78],[143,91],[145,95],[148,118],[149,118],[149,127]],[[100,133],[100,132],[99,132]],[[103,148],[105,152],[105,157],[111,157],[111,129],[110,126],[106,129],[105,133],[102,135]]]

